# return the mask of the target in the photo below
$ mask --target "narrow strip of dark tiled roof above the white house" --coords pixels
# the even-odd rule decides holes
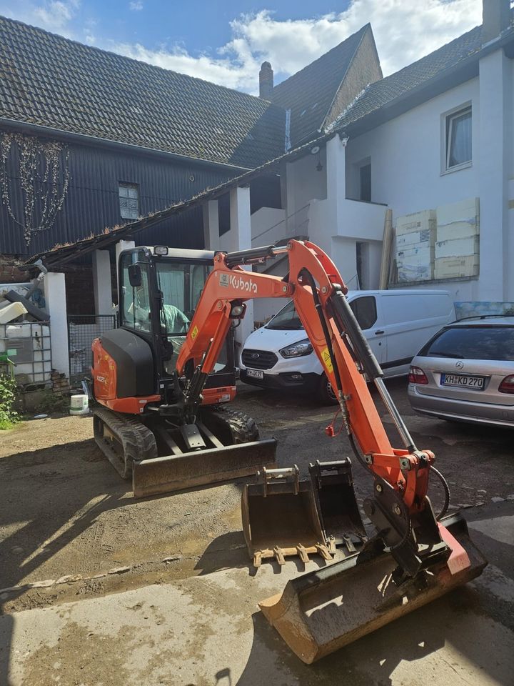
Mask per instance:
[[[435,76],[442,76],[446,69],[478,53],[482,47],[481,33],[482,27],[475,26],[475,29],[443,45],[442,48],[371,84],[353,105],[348,107],[333,128],[345,129],[349,124],[408,94],[408,91],[423,86]]]

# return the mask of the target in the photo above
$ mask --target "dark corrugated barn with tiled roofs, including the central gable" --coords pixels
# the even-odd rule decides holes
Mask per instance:
[[[265,97],[270,72],[272,82],[265,63],[256,97],[0,18],[0,253],[30,257],[216,187],[313,137],[381,77],[369,25],[277,86],[276,103]],[[37,204],[26,221],[29,202],[16,183],[20,156],[23,166],[33,151],[27,140],[61,147],[56,187],[66,193],[42,225]],[[254,205],[266,196],[273,207],[275,182],[254,183]],[[201,247],[201,220],[145,240],[165,238]]]

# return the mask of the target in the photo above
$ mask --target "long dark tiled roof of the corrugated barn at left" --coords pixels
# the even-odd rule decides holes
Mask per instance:
[[[0,117],[247,168],[284,151],[276,104],[4,17]]]

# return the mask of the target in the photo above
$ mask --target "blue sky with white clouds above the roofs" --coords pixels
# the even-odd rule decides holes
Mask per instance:
[[[250,93],[371,22],[384,74],[481,23],[481,0],[0,0],[0,14]]]

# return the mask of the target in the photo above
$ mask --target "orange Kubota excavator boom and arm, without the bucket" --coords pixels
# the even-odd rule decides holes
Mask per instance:
[[[263,262],[287,252],[286,279],[247,272],[241,264]],[[347,288],[336,265],[310,242],[218,253],[198,302],[177,371],[194,367],[186,402],[198,402],[202,382],[212,371],[233,319],[244,315],[245,301],[286,297],[293,300],[323,369],[336,390],[346,433],[358,459],[374,479],[374,500],[366,504],[384,545],[393,550],[401,575],[415,575],[433,557],[448,557],[427,498],[433,453],[415,447],[383,384],[383,372],[348,305]],[[373,381],[398,428],[404,447],[393,448],[368,389]],[[193,412],[193,409],[192,409]],[[442,513],[444,514],[444,513]],[[420,542],[428,552],[419,554]]]

